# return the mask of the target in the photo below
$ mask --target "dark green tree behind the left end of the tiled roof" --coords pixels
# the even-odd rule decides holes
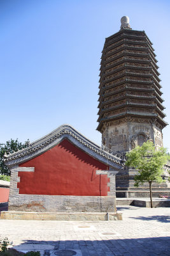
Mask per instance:
[[[10,175],[10,170],[4,164],[4,154],[11,154],[13,152],[17,152],[22,148],[26,148],[29,145],[29,140],[21,143],[17,140],[6,141],[6,144],[0,143],[0,173],[4,175]]]

